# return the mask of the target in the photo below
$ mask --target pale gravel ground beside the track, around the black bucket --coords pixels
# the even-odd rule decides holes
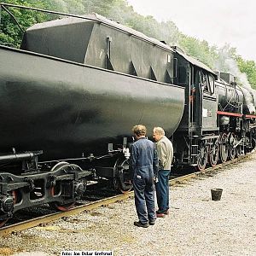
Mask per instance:
[[[134,201],[1,238],[0,255],[46,256],[62,251],[113,255],[256,255],[256,154],[212,177],[173,186],[171,211],[148,229],[137,228]],[[220,201],[211,189],[221,188]]]

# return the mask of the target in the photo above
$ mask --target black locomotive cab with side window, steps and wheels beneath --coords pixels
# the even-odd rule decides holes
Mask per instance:
[[[216,74],[206,65],[177,50],[177,78],[174,83],[185,88],[185,109],[183,118],[174,133],[175,159],[178,166],[207,165],[209,148],[210,161],[216,165],[218,155],[218,93]]]

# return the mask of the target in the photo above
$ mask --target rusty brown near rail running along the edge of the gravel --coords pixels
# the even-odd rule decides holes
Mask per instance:
[[[207,168],[205,171],[202,171],[202,172],[191,172],[189,174],[186,174],[180,177],[172,177],[170,180],[170,185],[186,183],[186,181],[196,177],[212,176],[214,175],[214,173],[218,172],[219,169],[224,168],[225,166],[230,166],[230,165],[236,164],[237,162],[246,160],[248,157],[250,157],[250,155],[251,154],[247,154],[239,158],[236,158],[235,160],[230,160],[224,164]],[[16,224],[9,224],[8,226],[5,226],[0,229],[0,236],[8,236],[11,233],[18,232],[21,230],[27,230],[37,226],[38,224],[47,224],[59,218],[65,218],[74,214],[78,214],[80,212],[90,211],[90,210],[96,209],[97,207],[107,206],[117,201],[125,201],[126,199],[133,197],[133,195],[134,195],[133,191],[128,192],[126,194],[122,194],[122,195],[113,195],[108,198],[104,198],[97,201],[91,201],[83,205],[79,205],[69,210],[68,212],[52,212],[44,216],[21,221]]]

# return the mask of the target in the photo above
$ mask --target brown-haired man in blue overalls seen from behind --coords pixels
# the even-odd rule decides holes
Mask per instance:
[[[131,147],[131,171],[133,172],[133,188],[135,206],[139,221],[137,227],[148,228],[154,225],[154,177],[158,172],[158,157],[155,145],[146,138],[147,129],[144,125],[132,128],[136,143]]]

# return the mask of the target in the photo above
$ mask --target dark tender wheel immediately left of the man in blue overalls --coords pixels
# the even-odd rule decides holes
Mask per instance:
[[[132,189],[131,172],[129,170],[129,161],[125,158],[119,158],[114,164],[115,177],[113,178],[113,188],[118,192],[125,194]]]

